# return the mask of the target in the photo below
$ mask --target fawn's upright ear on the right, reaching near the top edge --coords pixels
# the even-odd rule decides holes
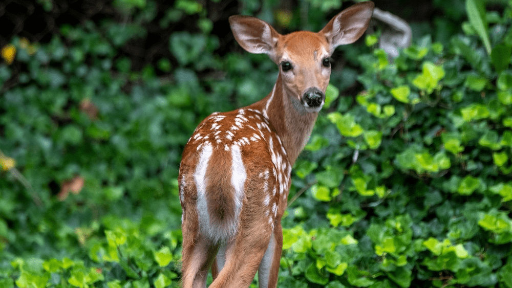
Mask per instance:
[[[360,2],[339,12],[320,31],[331,45],[331,52],[340,45],[355,42],[365,33],[373,14],[373,2]]]

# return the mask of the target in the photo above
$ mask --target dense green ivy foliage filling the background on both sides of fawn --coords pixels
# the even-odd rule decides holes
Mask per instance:
[[[239,12],[318,30],[340,7],[263,3]],[[338,49],[292,172],[280,287],[512,288],[512,6],[492,4],[436,2],[443,17],[413,26],[394,60],[378,27]],[[179,286],[182,147],[206,115],[273,85],[265,55],[219,56],[193,0],[159,19],[194,19],[170,35],[172,57],[135,71],[119,49],[156,4],[114,5],[130,20],[1,47],[0,287]]]

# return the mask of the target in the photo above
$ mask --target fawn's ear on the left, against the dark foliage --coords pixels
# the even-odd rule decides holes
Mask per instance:
[[[268,54],[274,59],[275,46],[281,37],[270,24],[251,16],[231,16],[229,25],[233,31],[234,39],[247,52],[254,54]]]

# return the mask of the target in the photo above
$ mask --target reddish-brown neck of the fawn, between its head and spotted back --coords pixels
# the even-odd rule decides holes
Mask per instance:
[[[284,87],[280,73],[272,92],[254,104],[260,106],[264,116],[281,138],[288,161],[292,165],[308,142],[318,116],[318,113],[308,113],[297,99],[298,96],[290,95]]]

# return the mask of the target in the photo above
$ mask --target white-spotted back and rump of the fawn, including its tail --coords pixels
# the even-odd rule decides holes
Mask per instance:
[[[214,241],[240,225],[269,229],[286,208],[291,165],[278,135],[259,110],[214,113],[190,137],[180,166],[184,217]],[[267,221],[261,216],[265,211]]]

